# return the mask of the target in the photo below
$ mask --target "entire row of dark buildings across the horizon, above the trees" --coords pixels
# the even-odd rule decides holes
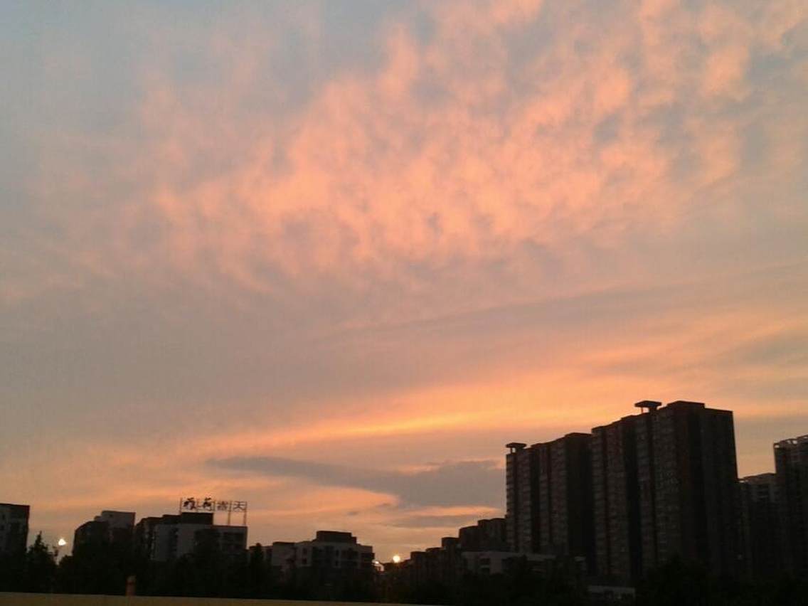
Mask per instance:
[[[808,436],[774,444],[774,473],[739,479],[730,410],[685,401],[635,406],[641,412],[588,433],[507,444],[505,516],[403,560],[378,564],[372,546],[350,532],[250,549],[284,586],[377,583],[387,596],[516,569],[631,587],[673,558],[736,579],[808,575]],[[215,524],[216,511],[227,524]],[[229,524],[234,511],[242,525]],[[29,515],[27,505],[0,503],[0,555],[24,553]],[[135,519],[101,511],[76,528],[74,554],[104,546],[158,563],[200,550],[246,557],[246,503],[188,499],[178,513]]]

